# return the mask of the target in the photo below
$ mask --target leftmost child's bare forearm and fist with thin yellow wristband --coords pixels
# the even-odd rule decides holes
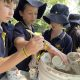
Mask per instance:
[[[0,62],[0,73],[11,69],[30,55],[37,54],[43,49],[43,40],[44,39],[42,37],[34,37],[23,49],[17,51],[10,57],[2,58],[3,62]]]

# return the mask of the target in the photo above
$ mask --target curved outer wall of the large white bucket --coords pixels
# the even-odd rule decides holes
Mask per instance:
[[[72,75],[57,71],[41,59],[39,62],[39,80],[80,80],[80,75]]]

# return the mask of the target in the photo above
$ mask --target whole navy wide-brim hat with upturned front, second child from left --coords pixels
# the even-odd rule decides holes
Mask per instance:
[[[19,11],[22,10],[27,3],[29,3],[32,6],[38,8],[37,19],[40,19],[42,17],[42,15],[44,14],[44,12],[45,12],[47,4],[46,3],[42,3],[40,1],[37,1],[37,0],[19,0],[19,4],[18,4],[17,8],[14,11],[13,17],[16,20],[21,21],[22,17],[20,16]]]

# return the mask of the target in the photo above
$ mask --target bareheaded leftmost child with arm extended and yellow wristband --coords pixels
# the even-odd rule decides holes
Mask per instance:
[[[39,50],[43,49],[43,38],[36,36],[28,44],[9,57],[6,57],[5,50],[5,37],[7,37],[7,32],[4,32],[3,27],[1,26],[2,22],[7,23],[13,16],[14,7],[16,0],[0,0],[0,80],[3,76],[3,72],[14,67],[16,64],[24,60],[26,57],[31,54],[37,53]],[[35,44],[37,42],[37,44]],[[6,43],[7,44],[7,43]],[[30,54],[29,54],[30,53]]]

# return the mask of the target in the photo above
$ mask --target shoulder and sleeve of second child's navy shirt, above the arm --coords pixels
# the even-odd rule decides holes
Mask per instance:
[[[14,31],[13,31],[13,38],[17,38],[17,37],[24,37],[27,41],[30,40],[31,38],[31,34],[26,30],[28,29],[28,27],[24,26],[25,24],[24,23],[17,23],[15,25],[15,28],[14,28]],[[34,32],[34,29],[32,28],[32,31]]]

